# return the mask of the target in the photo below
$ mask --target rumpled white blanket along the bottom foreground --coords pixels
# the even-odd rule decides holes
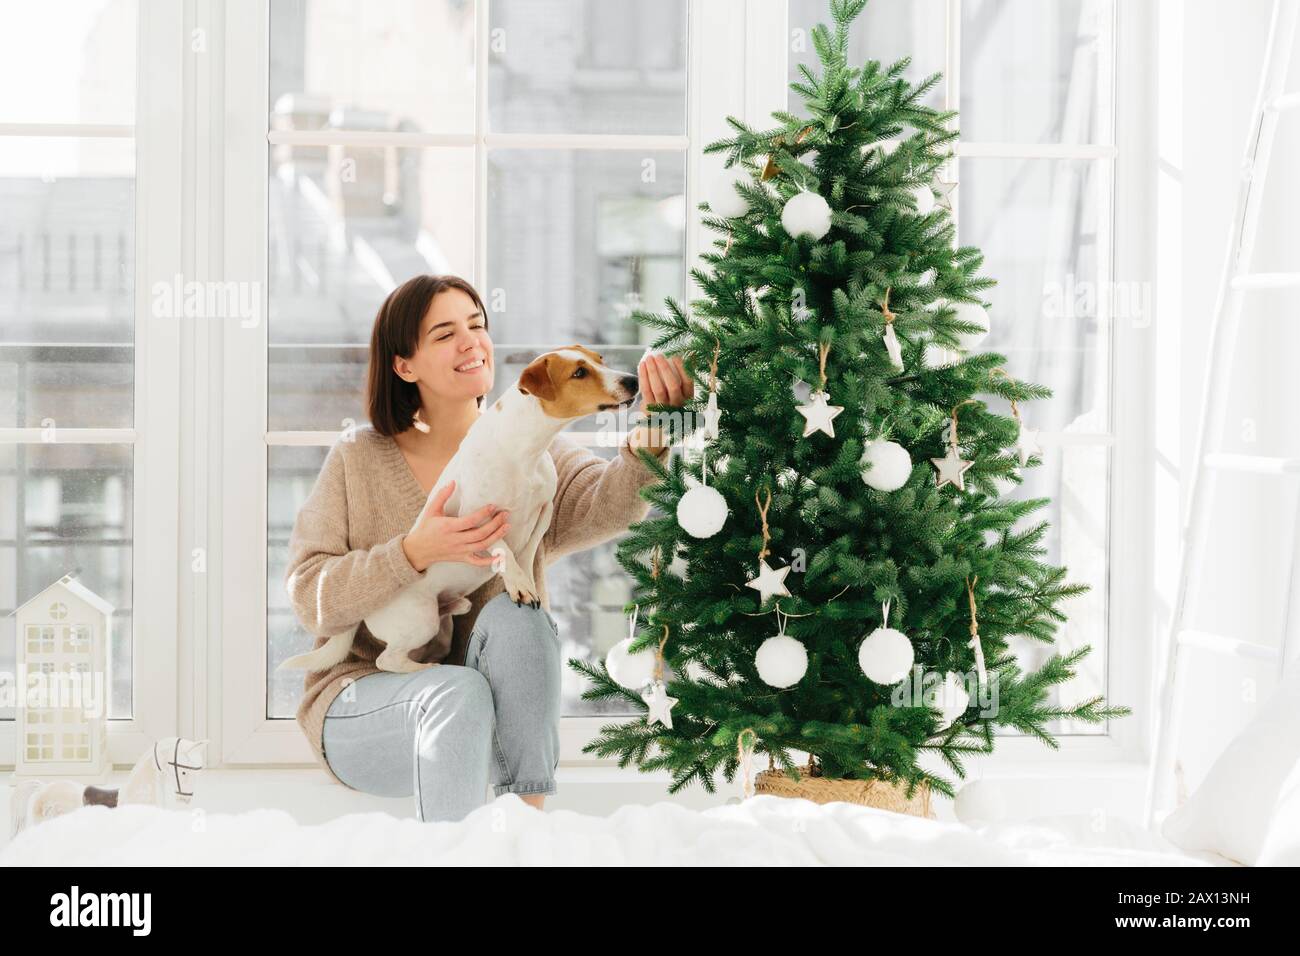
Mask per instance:
[[[628,805],[608,817],[537,810],[503,793],[459,823],[381,812],[303,826],[283,810],[83,806],[21,831],[0,866],[133,865],[857,865],[1206,866],[1156,834],[1082,817],[971,829],[853,804],[758,795],[692,810]]]

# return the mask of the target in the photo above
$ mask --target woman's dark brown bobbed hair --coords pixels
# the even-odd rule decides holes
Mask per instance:
[[[380,434],[390,438],[404,432],[415,421],[420,410],[420,386],[403,380],[393,371],[393,359],[410,359],[420,343],[420,321],[429,311],[433,297],[448,289],[465,293],[484,317],[488,328],[488,310],[478,293],[459,276],[415,276],[399,285],[380,306],[370,332],[370,368],[367,373],[367,411],[370,424]],[[478,397],[482,407],[484,397]],[[425,424],[433,424],[432,421]]]

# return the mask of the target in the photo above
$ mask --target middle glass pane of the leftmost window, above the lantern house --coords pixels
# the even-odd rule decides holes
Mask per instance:
[[[0,427],[133,423],[130,139],[0,139]]]

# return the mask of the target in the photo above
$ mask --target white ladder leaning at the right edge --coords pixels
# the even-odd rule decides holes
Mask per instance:
[[[1251,273],[1254,251],[1254,233],[1260,221],[1261,198],[1273,155],[1273,137],[1283,112],[1296,111],[1300,116],[1300,92],[1283,94],[1287,65],[1295,43],[1296,22],[1300,18],[1300,0],[1274,0],[1269,22],[1269,39],[1260,75],[1260,91],[1251,117],[1245,159],[1242,165],[1242,183],[1238,190],[1236,212],[1228,252],[1219,280],[1218,298],[1210,326],[1206,358],[1204,405],[1196,437],[1196,455],[1192,459],[1192,485],[1188,512],[1183,523],[1183,545],[1179,562],[1178,592],[1170,614],[1166,636],[1165,672],[1160,687],[1160,711],[1156,723],[1156,753],[1147,780],[1144,825],[1156,823],[1156,813],[1165,809],[1165,793],[1175,775],[1176,727],[1180,714],[1178,683],[1182,674],[1179,648],[1196,648],[1227,657],[1256,661],[1275,661],[1278,671],[1287,661],[1287,644],[1294,631],[1300,630],[1300,512],[1297,512],[1296,550],[1291,557],[1291,588],[1287,614],[1278,648],[1252,644],[1236,637],[1187,630],[1183,620],[1187,610],[1188,583],[1200,570],[1205,555],[1209,503],[1214,490],[1214,476],[1222,471],[1253,472],[1258,475],[1300,475],[1300,458],[1265,458],[1261,455],[1235,455],[1206,453],[1210,442],[1223,434],[1226,414],[1225,392],[1232,367],[1232,352],[1240,330],[1244,297],[1260,289],[1300,287],[1300,272]]]

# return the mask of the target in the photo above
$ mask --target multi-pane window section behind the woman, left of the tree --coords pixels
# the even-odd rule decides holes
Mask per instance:
[[[370,328],[396,284],[476,284],[499,356],[489,398],[571,341],[634,369],[645,346],[630,308],[684,294],[685,0],[497,0],[481,13],[452,0],[270,8],[272,667],[311,645],[281,585],[285,546],[325,446],[364,420]],[[547,580],[568,653],[603,654],[625,635],[612,545]],[[292,717],[302,675],[268,676],[268,714]],[[589,711],[568,676],[567,713]]]

